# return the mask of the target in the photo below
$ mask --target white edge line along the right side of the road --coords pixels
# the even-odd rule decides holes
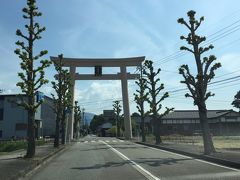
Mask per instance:
[[[137,144],[137,145],[144,146],[144,145],[141,145],[141,144]],[[210,164],[210,165],[213,165],[213,166],[218,166],[218,167],[229,169],[229,170],[232,170],[232,171],[240,172],[239,169],[227,167],[227,166],[224,166],[224,165],[219,165],[219,164],[208,162],[208,161],[205,161],[205,160],[202,160],[202,159],[196,159],[196,158],[192,158],[190,156],[186,156],[186,155],[182,155],[182,154],[178,154],[178,153],[174,153],[174,152],[170,152],[170,151],[166,151],[166,150],[162,150],[162,149],[158,149],[158,148],[154,148],[154,147],[149,147],[149,146],[144,146],[144,147],[148,147],[149,149],[158,150],[158,151],[165,152],[165,153],[168,153],[168,154],[177,155],[177,156],[180,156],[180,157],[183,157],[183,158],[196,160],[196,161],[199,161],[199,162],[202,162],[202,163]]]

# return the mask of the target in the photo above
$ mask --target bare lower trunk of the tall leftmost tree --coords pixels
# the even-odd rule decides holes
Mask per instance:
[[[27,154],[26,158],[32,158],[35,155],[35,113],[32,110],[28,111],[28,126],[27,126]]]

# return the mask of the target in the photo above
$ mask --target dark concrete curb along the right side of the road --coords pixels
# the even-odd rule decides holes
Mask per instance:
[[[145,145],[145,146],[149,146],[149,147],[154,147],[154,148],[157,148],[157,149],[162,149],[162,150],[177,153],[177,154],[182,154],[182,155],[185,155],[185,156],[190,156],[190,157],[197,158],[197,159],[202,159],[202,160],[205,160],[205,161],[213,162],[213,163],[216,163],[216,164],[221,164],[221,165],[231,167],[231,168],[235,168],[235,169],[240,169],[240,164],[237,163],[237,162],[228,161],[228,160],[220,159],[220,158],[215,158],[215,157],[212,157],[212,156],[209,156],[209,155],[197,155],[197,154],[190,153],[190,152],[180,151],[180,150],[176,150],[176,149],[172,149],[172,148],[167,148],[167,147],[164,147],[164,146],[148,144],[148,143],[143,143],[143,142],[135,142],[135,143]]]

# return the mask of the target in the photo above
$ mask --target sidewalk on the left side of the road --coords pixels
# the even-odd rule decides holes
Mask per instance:
[[[36,155],[33,159],[24,159],[25,150],[18,150],[12,153],[0,155],[0,180],[18,179],[27,172],[34,169],[40,163],[62,151],[66,146],[54,148],[53,144],[36,147]]]

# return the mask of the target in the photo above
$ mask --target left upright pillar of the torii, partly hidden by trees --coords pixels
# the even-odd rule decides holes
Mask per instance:
[[[71,97],[71,104],[72,107],[74,106],[74,89],[75,89],[75,74],[76,74],[76,67],[75,66],[71,66],[70,67],[70,75],[71,75],[71,84],[72,84],[72,88],[70,89],[70,92],[72,94]],[[73,122],[74,122],[74,111],[73,108],[71,109],[71,113],[68,116],[68,131],[67,131],[67,139],[71,140],[73,139]]]

